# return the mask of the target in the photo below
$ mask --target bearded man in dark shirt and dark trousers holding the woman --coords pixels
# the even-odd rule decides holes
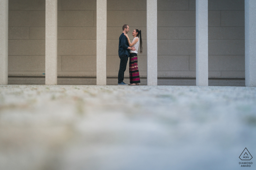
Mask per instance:
[[[129,31],[129,26],[124,24],[123,33],[119,37],[119,49],[118,55],[120,58],[120,66],[118,71],[118,85],[127,86],[124,81],[124,72],[126,70],[126,65],[128,61],[128,57],[130,54],[130,50],[135,51],[135,47],[129,47],[128,40],[124,34],[127,34]]]

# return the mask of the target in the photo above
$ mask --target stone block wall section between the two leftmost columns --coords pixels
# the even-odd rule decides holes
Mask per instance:
[[[45,70],[45,1],[9,0],[8,75]]]

